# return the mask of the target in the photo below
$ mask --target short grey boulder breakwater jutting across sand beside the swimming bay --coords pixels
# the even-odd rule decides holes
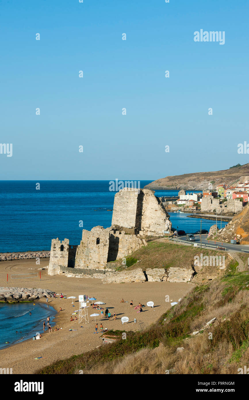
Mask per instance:
[[[0,287],[0,302],[5,303],[34,301],[43,297],[50,298],[53,295],[54,292],[51,290]]]

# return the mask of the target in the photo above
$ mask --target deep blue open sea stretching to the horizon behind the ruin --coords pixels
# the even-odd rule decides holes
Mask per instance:
[[[150,182],[140,181],[140,187]],[[36,190],[37,183],[40,190]],[[109,181],[97,180],[0,181],[0,252],[50,250],[51,240],[57,237],[79,244],[82,229],[108,228],[116,193],[109,188]],[[177,196],[178,190],[156,191],[155,195]],[[200,229],[197,218],[185,214],[170,214],[170,218],[174,228]],[[213,221],[203,220],[202,228],[211,225]]]

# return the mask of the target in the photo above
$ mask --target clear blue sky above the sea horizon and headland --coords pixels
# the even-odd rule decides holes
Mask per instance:
[[[248,16],[248,0],[0,1],[0,142],[13,146],[0,179],[155,180],[245,164]],[[201,29],[225,31],[225,44],[195,42]]]

